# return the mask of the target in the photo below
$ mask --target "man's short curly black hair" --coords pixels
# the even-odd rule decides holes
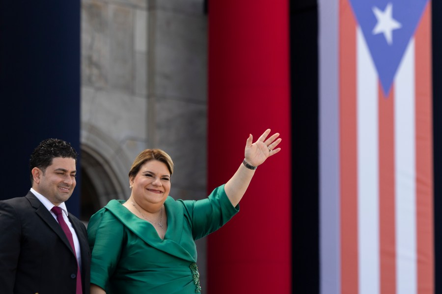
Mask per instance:
[[[32,176],[32,169],[39,168],[43,173],[46,168],[52,164],[52,159],[55,157],[74,158],[77,163],[77,152],[67,142],[59,139],[46,139],[35,147],[29,159],[29,172],[31,185],[34,183]]]

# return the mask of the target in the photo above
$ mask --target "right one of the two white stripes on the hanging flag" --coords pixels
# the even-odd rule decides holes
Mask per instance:
[[[395,79],[396,293],[417,293],[414,38]]]

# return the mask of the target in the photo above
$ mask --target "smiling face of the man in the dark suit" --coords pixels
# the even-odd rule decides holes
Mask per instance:
[[[58,206],[72,195],[76,172],[74,158],[55,157],[44,173],[38,168],[32,169],[32,188]]]

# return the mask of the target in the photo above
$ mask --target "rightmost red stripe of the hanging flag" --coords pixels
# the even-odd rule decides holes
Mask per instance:
[[[431,2],[415,34],[417,293],[434,293]]]

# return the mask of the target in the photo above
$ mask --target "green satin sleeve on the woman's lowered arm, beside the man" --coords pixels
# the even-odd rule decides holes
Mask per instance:
[[[90,219],[87,234],[92,252],[90,283],[107,291],[121,256],[124,225],[103,208]]]

